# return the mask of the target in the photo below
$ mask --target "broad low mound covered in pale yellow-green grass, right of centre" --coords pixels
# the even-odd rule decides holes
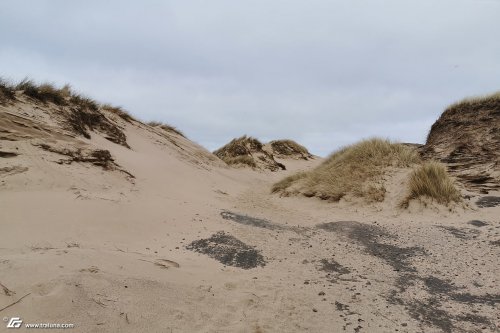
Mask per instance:
[[[383,201],[382,176],[390,167],[420,163],[416,149],[390,140],[372,138],[341,148],[315,169],[291,175],[272,186],[284,195],[303,194],[329,201],[346,195]]]

